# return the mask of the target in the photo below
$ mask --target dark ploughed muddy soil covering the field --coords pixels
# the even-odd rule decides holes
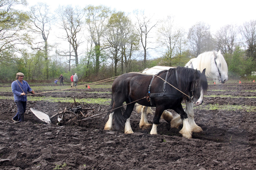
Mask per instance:
[[[6,84],[9,86],[9,84]],[[35,85],[34,85],[35,86]],[[40,84],[42,86],[42,84]],[[47,86],[47,84],[46,84]],[[33,89],[33,86],[32,86]],[[256,169],[256,111],[246,109],[204,109],[209,104],[256,106],[253,82],[242,84],[213,84],[209,82],[202,107],[194,107],[195,121],[202,133],[185,139],[179,129],[161,120],[158,135],[151,129],[139,128],[140,114],[131,116],[133,134],[105,131],[104,115],[82,121],[80,126],[42,123],[31,111],[29,98],[25,122],[14,123],[11,118],[17,109],[14,100],[0,100],[0,169],[1,170],[255,170]],[[76,98],[110,98],[109,88],[74,89]],[[38,91],[37,91],[38,92]],[[3,92],[1,96],[12,96]],[[72,98],[72,90],[65,93],[46,93],[41,96]],[[222,96],[233,97],[222,97]],[[235,97],[235,98],[234,98]],[[248,98],[252,97],[252,98]],[[254,97],[254,98],[253,98]],[[62,102],[36,102],[50,116],[70,106]],[[104,113],[108,106],[92,104],[95,113]],[[222,108],[222,107],[220,107]],[[244,107],[243,107],[244,108]],[[174,111],[172,111],[174,115]],[[152,123],[153,117],[148,116]],[[105,119],[106,121],[106,119]]]

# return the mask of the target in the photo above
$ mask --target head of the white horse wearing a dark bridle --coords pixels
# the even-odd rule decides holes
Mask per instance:
[[[213,51],[213,60],[211,64],[212,78],[218,79],[219,82],[225,83],[228,80],[228,66],[227,63],[219,51]]]

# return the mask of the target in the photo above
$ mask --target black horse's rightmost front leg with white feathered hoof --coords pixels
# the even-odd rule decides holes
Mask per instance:
[[[180,130],[180,134],[182,134],[183,137],[185,138],[192,138],[192,129],[190,127],[190,124],[188,123],[188,115],[187,113],[183,110],[181,103],[179,104],[178,107],[174,109],[177,113],[180,114],[180,117],[183,122],[183,127]]]

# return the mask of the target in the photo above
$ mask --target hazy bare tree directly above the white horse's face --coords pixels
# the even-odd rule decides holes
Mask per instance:
[[[237,29],[234,25],[225,25],[215,34],[216,44],[222,53],[232,55],[236,46]]]

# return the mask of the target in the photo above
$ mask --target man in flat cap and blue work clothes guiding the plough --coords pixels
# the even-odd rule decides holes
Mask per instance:
[[[28,82],[23,80],[24,74],[22,72],[18,72],[16,74],[16,79],[12,82],[12,92],[14,96],[14,102],[18,107],[18,112],[14,117],[12,117],[12,121],[24,121],[24,113],[26,111],[27,106],[27,94],[28,92],[34,94],[34,90],[30,88]]]

